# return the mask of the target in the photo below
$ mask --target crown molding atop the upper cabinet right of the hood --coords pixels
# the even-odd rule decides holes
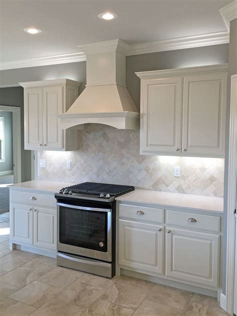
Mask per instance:
[[[228,64],[142,71],[142,72],[136,72],[135,74],[140,79],[152,79],[152,78],[157,78],[157,77],[158,78],[180,77],[180,76],[200,75],[200,74],[220,73],[220,72],[224,72],[224,73],[228,72]]]

